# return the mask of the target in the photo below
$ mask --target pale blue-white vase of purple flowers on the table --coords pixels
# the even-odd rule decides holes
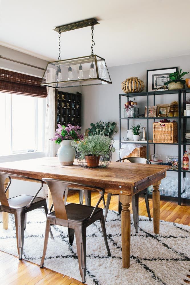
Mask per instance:
[[[71,146],[71,142],[83,139],[83,135],[78,134],[79,126],[68,124],[67,127],[58,124],[55,137],[50,139],[57,144],[61,144],[58,149],[58,159],[61,165],[72,165],[75,159],[75,150]]]

